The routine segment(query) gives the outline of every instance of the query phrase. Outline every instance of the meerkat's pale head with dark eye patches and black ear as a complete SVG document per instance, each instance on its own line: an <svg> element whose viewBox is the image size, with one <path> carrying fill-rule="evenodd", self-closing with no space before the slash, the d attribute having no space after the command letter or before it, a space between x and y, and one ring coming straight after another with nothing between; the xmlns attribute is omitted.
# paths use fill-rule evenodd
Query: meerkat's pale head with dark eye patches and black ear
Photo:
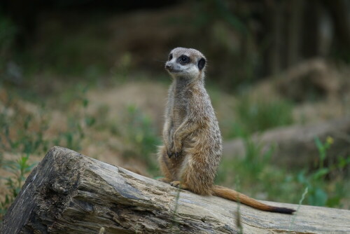
<svg viewBox="0 0 350 234"><path fill-rule="evenodd" d="M165 69L174 78L203 78L206 62L200 51L178 47L170 52Z"/></svg>

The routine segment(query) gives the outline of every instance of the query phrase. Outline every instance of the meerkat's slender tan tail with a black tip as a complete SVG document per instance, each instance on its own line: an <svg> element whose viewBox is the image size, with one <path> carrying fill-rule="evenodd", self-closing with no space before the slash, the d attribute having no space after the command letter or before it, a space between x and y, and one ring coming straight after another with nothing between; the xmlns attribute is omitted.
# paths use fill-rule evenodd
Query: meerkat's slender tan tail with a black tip
<svg viewBox="0 0 350 234"><path fill-rule="evenodd" d="M223 186L214 185L213 192L214 192L213 195L216 195L218 197L225 198L228 200L234 200L236 202L241 202L255 209L261 209L267 212L276 212L276 213L283 213L283 214L293 214L293 212L295 212L295 209L289 209L286 207L273 207L271 205L266 205L262 202L258 202L258 200L249 198L247 195L244 195L243 193L239 193L235 190L232 190L230 188L225 188Z"/></svg>

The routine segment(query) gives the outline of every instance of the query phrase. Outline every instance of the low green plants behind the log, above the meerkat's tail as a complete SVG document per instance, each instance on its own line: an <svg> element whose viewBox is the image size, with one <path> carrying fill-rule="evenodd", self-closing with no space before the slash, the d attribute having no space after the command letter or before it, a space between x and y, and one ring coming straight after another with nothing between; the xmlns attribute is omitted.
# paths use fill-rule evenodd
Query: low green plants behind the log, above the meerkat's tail
<svg viewBox="0 0 350 234"><path fill-rule="evenodd" d="M344 186L344 170L350 165L350 156L339 157L337 163L328 163L325 166L327 150L330 149L332 141L330 137L325 143L315 139L320 160L314 170L286 172L283 168L273 165L270 160L273 148L262 151L262 146L245 137L246 155L223 158L216 183L230 186L235 184L232 178L239 176L244 193L253 197L260 195L260 199L290 203L296 203L302 190L307 188L307 205L341 207L342 199L350 192L349 188Z"/></svg>

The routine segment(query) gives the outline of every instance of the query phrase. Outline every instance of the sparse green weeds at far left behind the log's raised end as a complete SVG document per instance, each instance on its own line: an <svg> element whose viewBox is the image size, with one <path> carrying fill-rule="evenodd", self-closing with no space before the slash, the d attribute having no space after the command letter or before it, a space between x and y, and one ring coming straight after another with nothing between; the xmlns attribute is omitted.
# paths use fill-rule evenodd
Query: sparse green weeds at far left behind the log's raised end
<svg viewBox="0 0 350 234"><path fill-rule="evenodd" d="M0 111L0 156L3 152L13 156L21 156L18 160L1 160L0 167L11 173L10 177L0 177L1 184L8 188L4 200L0 202L0 215L6 213L6 209L18 195L27 174L36 163L29 163L31 156L46 153L52 146L59 145L73 150L81 149L81 142L85 137L85 130L94 125L95 120L87 114L88 100L85 97L86 89L80 90L76 99L78 107L75 112L67 117L65 130L55 137L46 139L48 131L48 114L38 109L36 116L23 110L18 104L18 98L14 93L8 92L6 99L0 100L3 108ZM13 114L16 118L13 118ZM25 156L22 156L25 155ZM1 158L2 159L2 158Z"/></svg>

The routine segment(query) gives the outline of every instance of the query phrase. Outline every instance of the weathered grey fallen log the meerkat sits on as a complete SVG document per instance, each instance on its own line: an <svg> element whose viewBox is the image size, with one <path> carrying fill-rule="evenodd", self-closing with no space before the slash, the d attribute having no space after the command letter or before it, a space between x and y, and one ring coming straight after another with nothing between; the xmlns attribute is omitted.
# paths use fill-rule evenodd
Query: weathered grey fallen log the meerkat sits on
<svg viewBox="0 0 350 234"><path fill-rule="evenodd" d="M350 233L349 220L349 210L304 205L294 215L262 212L55 146L27 178L0 233Z"/></svg>

